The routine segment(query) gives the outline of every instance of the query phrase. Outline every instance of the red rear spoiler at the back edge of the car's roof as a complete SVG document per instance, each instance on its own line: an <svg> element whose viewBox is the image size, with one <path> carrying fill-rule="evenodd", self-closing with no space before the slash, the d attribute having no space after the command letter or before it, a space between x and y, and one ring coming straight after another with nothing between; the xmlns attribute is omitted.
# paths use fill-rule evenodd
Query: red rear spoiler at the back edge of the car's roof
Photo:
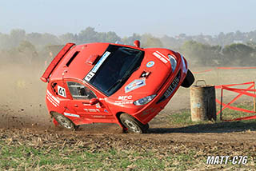
<svg viewBox="0 0 256 171"><path fill-rule="evenodd" d="M72 46L74 46L74 43L67 43L66 46L62 48L61 51L56 55L56 57L53 59L52 62L50 62L50 65L47 67L44 74L42 74L42 77L40 78L42 82L47 82L50 74L53 72L54 68L58 65L58 62L62 60L62 58L65 56L65 54L71 49Z"/></svg>

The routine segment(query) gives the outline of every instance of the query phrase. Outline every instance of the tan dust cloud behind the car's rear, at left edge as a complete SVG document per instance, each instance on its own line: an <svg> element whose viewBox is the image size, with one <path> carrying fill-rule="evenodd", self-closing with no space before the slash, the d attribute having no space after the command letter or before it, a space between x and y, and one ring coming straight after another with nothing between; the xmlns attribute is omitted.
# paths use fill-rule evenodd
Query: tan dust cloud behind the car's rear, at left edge
<svg viewBox="0 0 256 171"><path fill-rule="evenodd" d="M0 127L50 126L45 105L44 65L2 63L0 66Z"/></svg>

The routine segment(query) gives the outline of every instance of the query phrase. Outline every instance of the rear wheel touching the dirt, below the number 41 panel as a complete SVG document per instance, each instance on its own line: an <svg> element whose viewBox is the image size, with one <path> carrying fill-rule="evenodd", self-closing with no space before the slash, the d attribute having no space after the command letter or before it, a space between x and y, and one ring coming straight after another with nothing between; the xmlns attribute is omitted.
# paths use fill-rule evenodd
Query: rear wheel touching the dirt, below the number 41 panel
<svg viewBox="0 0 256 171"><path fill-rule="evenodd" d="M54 112L52 115L54 119L58 122L58 124L61 125L63 128L78 129L78 126L74 125L73 121L70 121L69 118L63 116L62 114Z"/></svg>

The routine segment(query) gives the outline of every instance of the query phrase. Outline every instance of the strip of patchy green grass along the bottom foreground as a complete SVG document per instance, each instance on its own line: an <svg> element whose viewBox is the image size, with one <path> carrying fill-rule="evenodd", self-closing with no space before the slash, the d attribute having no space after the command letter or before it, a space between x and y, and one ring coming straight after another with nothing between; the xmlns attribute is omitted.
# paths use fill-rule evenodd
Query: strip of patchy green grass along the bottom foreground
<svg viewBox="0 0 256 171"><path fill-rule="evenodd" d="M194 151L186 154L121 149L34 148L30 145L6 145L1 141L0 169L49 170L184 170L195 165ZM49 150L50 149L50 150ZM187 162L186 165L180 165Z"/></svg>

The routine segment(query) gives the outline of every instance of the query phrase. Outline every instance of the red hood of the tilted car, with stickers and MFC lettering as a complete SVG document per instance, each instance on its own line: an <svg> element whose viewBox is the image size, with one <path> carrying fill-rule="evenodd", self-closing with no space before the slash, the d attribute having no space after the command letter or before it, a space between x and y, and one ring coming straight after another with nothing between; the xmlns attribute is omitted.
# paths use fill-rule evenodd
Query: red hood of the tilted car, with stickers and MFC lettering
<svg viewBox="0 0 256 171"><path fill-rule="evenodd" d="M172 74L172 67L168 54L177 59L177 54L166 49L146 49L141 66L126 81L116 93L112 95L115 99L130 97L137 100L146 97L161 89L166 79Z"/></svg>

